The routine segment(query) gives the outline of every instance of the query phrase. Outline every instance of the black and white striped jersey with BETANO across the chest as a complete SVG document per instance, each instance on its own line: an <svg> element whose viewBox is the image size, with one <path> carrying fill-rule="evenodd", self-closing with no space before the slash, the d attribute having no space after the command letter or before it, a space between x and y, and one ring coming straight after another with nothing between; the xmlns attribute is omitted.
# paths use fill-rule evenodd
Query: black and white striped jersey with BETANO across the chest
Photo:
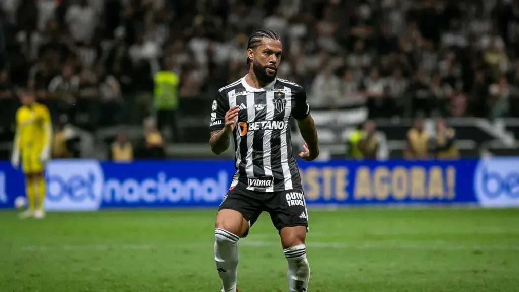
<svg viewBox="0 0 519 292"><path fill-rule="evenodd" d="M303 87L276 78L264 88L254 88L242 77L218 90L210 130L223 129L225 113L235 106L239 106L239 113L233 131L236 173L231 188L240 185L262 192L302 191L290 118L303 120L308 116L310 108Z"/></svg>

